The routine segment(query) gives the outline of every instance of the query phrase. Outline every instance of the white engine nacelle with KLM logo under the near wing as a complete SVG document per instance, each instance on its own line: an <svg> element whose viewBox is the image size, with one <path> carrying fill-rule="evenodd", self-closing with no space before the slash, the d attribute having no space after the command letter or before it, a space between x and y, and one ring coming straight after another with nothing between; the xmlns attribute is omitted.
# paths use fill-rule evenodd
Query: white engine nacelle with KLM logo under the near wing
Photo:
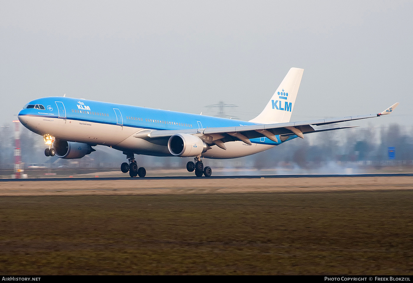
<svg viewBox="0 0 413 283"><path fill-rule="evenodd" d="M180 157L198 156L207 151L207 144L200 138L187 133L178 133L168 140L168 149L172 155Z"/></svg>

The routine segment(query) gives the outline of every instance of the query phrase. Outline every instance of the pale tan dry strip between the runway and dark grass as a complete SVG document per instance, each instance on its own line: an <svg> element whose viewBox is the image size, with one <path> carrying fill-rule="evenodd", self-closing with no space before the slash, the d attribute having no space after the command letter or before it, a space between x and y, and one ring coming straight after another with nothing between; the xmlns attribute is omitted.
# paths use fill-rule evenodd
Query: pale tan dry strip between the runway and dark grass
<svg viewBox="0 0 413 283"><path fill-rule="evenodd" d="M161 179L101 181L0 182L0 195L145 195L204 193L320 192L340 190L408 190L413 177L320 177Z"/></svg>

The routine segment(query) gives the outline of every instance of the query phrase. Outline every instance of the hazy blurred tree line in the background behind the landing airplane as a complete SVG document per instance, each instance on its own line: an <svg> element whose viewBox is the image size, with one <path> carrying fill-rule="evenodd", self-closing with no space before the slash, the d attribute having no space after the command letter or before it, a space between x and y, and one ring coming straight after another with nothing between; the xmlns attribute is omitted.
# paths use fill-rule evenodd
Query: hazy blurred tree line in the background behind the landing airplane
<svg viewBox="0 0 413 283"><path fill-rule="evenodd" d="M8 126L8 127L7 127ZM97 146L97 151L82 159L45 157L43 138L20 126L22 162L26 164L54 164L87 167L119 166L126 161L121 152ZM329 162L384 162L389 160L388 147L395 148L394 161L412 164L412 128L391 124L383 128L354 128L338 131L309 133L304 140L296 138L265 152L241 159L225 161L225 164L245 164L257 169L279 166L312 168ZM12 168L14 164L14 125L0 128L0 168ZM191 158L137 156L144 166L181 167ZM213 162L213 161L211 161Z"/></svg>

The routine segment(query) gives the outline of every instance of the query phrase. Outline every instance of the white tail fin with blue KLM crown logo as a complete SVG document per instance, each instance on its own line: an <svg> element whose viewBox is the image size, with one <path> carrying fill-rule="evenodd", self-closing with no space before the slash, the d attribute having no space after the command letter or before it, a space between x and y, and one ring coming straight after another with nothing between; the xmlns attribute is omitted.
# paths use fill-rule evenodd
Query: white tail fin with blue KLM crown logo
<svg viewBox="0 0 413 283"><path fill-rule="evenodd" d="M264 110L250 122L273 124L289 122L304 69L291 68Z"/></svg>

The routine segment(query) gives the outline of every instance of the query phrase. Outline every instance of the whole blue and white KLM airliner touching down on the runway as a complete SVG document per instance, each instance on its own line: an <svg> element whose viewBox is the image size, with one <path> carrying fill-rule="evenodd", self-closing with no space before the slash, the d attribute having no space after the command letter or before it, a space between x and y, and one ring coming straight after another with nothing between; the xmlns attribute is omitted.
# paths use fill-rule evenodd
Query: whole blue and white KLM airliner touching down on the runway
<svg viewBox="0 0 413 283"><path fill-rule="evenodd" d="M121 164L123 173L144 177L135 154L194 157L187 169L200 177L211 176L203 157L213 159L252 155L304 138L306 133L341 128L314 126L366 119L390 114L395 103L378 114L290 122L303 69L291 68L261 114L250 121L238 121L160 109L97 102L92 100L49 97L29 102L19 112L19 120L45 140L46 156L66 159L82 158L95 151L96 145L121 150L128 162Z"/></svg>

